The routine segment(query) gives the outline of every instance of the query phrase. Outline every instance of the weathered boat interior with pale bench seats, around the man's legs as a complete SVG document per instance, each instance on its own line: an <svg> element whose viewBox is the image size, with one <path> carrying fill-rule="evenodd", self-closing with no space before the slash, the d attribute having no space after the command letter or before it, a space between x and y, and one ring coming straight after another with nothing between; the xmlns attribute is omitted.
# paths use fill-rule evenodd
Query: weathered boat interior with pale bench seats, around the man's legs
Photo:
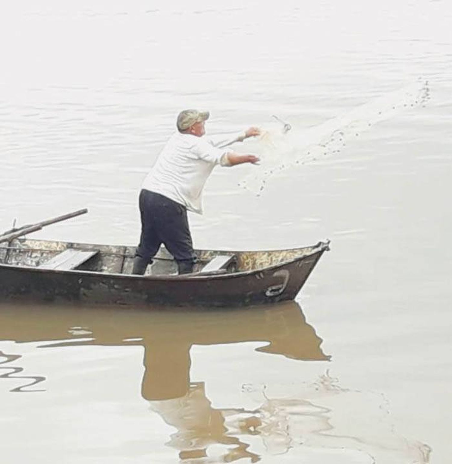
<svg viewBox="0 0 452 464"><path fill-rule="evenodd" d="M275 251L195 250L195 273L255 271L310 255L317 245ZM54 271L83 270L109 274L131 274L135 247L90 245L72 242L16 238L0 244L0 264L38 267ZM146 274L177 274L172 255L162 245Z"/></svg>

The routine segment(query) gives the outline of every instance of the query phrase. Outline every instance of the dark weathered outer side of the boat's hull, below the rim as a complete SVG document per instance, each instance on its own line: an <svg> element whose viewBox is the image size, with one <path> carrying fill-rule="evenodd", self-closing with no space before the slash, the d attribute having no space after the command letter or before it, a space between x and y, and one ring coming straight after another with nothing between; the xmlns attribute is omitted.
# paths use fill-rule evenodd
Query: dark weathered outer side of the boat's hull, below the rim
<svg viewBox="0 0 452 464"><path fill-rule="evenodd" d="M91 271L48 271L0 265L0 296L14 300L87 304L248 306L293 300L321 249L259 271L216 276L130 276Z"/></svg>

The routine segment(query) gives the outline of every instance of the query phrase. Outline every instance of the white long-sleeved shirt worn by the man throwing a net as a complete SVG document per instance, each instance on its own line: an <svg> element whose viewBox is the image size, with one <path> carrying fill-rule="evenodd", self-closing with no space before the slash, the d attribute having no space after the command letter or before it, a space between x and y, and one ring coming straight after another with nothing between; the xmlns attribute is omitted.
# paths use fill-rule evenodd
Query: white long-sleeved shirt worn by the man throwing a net
<svg viewBox="0 0 452 464"><path fill-rule="evenodd" d="M226 155L231 150L226 147L243 139L241 134L214 142L205 135L197 137L175 132L147 174L142 188L202 214L202 192L207 178L217 164L229 166Z"/></svg>

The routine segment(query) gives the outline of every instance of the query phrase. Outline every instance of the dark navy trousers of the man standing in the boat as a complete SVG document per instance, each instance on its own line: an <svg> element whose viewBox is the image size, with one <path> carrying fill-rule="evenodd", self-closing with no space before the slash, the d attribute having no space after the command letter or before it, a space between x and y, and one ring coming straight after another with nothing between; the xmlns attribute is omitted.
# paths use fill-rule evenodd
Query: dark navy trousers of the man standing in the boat
<svg viewBox="0 0 452 464"><path fill-rule="evenodd" d="M185 206L145 189L140 192L139 204L141 237L135 256L146 265L152 263L163 243L177 261L179 273L191 272L196 256Z"/></svg>

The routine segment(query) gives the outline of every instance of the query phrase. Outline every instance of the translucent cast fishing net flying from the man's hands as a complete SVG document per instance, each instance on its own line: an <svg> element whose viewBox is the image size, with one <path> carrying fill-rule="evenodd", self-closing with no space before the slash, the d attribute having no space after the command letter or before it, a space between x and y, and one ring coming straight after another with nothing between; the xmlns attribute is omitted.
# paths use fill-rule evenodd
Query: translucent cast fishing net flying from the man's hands
<svg viewBox="0 0 452 464"><path fill-rule="evenodd" d="M272 175L325 156L337 156L347 142L356 139L377 122L388 120L402 111L425 106L429 99L428 81L419 80L308 129L293 128L273 116L284 125L279 124L278 129L263 132L255 147L261 162L238 185L259 196Z"/></svg>

